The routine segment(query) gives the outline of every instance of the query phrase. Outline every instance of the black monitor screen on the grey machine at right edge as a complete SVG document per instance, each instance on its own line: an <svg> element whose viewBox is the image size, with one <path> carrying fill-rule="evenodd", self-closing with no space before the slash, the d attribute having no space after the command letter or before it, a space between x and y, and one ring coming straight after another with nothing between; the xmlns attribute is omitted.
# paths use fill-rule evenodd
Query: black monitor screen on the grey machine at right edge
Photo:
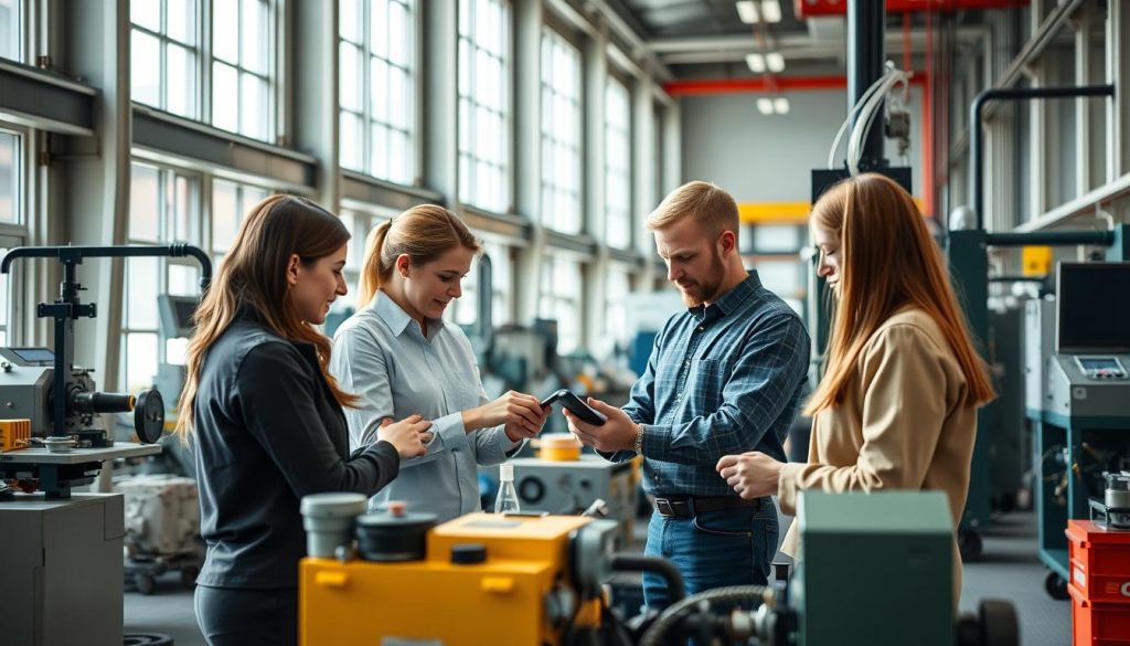
<svg viewBox="0 0 1130 646"><path fill-rule="evenodd" d="M1130 352L1130 262L1060 262L1055 352Z"/></svg>

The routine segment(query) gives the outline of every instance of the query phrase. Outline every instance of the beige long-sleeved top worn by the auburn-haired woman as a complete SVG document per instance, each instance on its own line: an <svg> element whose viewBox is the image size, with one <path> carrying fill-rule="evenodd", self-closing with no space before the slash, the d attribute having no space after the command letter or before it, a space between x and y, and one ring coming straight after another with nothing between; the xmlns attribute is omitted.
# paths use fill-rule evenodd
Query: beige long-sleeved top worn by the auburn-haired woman
<svg viewBox="0 0 1130 646"><path fill-rule="evenodd" d="M786 464L781 510L796 515L806 489L829 492L890 489L944 491L956 528L970 486L977 415L949 344L925 312L904 309L868 341L858 377L838 406L812 421L808 464ZM782 551L796 557L793 523ZM954 591L962 563L955 542Z"/></svg>

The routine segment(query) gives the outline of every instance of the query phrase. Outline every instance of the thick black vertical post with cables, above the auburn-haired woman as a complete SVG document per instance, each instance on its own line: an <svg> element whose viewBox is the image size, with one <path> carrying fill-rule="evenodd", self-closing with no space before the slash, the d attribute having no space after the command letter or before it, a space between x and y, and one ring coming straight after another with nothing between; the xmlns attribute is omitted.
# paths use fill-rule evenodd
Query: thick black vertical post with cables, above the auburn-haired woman
<svg viewBox="0 0 1130 646"><path fill-rule="evenodd" d="M886 0L847 0L847 110L851 111L867 88L883 77L883 36ZM880 105L879 111L883 110ZM881 113L881 112L880 112ZM852 117L851 130L861 115ZM863 124L867 126L866 123ZM863 141L860 165L886 165L883 158L883 128L872 127Z"/></svg>

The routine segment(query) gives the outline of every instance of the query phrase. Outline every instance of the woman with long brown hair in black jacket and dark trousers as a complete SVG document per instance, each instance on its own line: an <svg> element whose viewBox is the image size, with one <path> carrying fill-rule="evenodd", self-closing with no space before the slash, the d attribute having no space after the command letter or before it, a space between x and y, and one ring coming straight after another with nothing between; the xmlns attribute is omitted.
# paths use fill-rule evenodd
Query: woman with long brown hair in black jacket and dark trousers
<svg viewBox="0 0 1130 646"><path fill-rule="evenodd" d="M195 610L211 646L295 644L299 500L372 496L431 439L414 415L349 454L341 407L356 398L327 372L330 341L313 327L346 293L348 240L314 203L269 197L197 309L176 433L195 451L208 546Z"/></svg>

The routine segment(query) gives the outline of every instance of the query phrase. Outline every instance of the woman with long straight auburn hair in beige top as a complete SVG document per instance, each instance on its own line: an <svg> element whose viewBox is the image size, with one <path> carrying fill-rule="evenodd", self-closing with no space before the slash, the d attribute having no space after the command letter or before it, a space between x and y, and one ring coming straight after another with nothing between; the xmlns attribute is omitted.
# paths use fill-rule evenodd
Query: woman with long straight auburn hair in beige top
<svg viewBox="0 0 1130 646"><path fill-rule="evenodd" d="M809 224L818 273L837 302L827 369L806 408L814 416L808 463L746 453L724 456L718 471L742 498L776 494L786 514L805 490L938 490L956 527L976 410L996 395L941 250L911 196L873 173L828 189ZM782 548L792 555L796 532ZM954 559L956 595L956 541Z"/></svg>

